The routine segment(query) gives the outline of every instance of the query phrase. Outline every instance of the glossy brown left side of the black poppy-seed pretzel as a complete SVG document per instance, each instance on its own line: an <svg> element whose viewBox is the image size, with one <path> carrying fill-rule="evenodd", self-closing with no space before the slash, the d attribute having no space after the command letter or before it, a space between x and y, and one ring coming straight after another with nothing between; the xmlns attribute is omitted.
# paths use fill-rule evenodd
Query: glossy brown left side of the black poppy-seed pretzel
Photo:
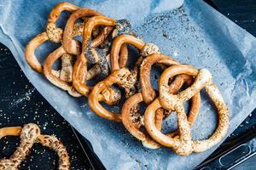
<svg viewBox="0 0 256 170"><path fill-rule="evenodd" d="M90 52L90 38L92 29L95 26L114 26L115 23L115 20L109 19L108 17L95 16L90 18L90 20L88 20L84 25L82 52L73 67L73 87L76 88L80 94L84 94L84 96L88 96L88 94L90 93L90 87L87 86L83 80L86 78L87 74L87 56ZM86 53L86 57L84 53ZM103 57L102 59L106 58ZM99 59L95 59L94 63L96 63L97 61L99 61ZM105 60L105 62L102 60L102 64L108 65L107 59ZM102 68L102 65L100 65L100 67ZM105 71L103 71L103 73L107 75L108 72Z"/></svg>

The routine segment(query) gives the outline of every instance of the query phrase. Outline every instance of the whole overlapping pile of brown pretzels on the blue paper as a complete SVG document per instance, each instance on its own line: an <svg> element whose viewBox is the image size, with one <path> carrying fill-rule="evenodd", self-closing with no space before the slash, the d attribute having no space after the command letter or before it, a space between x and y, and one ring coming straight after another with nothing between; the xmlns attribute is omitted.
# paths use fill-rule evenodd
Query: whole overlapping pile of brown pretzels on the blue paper
<svg viewBox="0 0 256 170"><path fill-rule="evenodd" d="M64 29L55 24L62 11L71 13ZM76 37L82 37L82 41ZM45 41L61 46L41 65L35 50ZM127 45L140 53L132 68L127 66ZM229 111L212 82L210 71L197 70L161 54L154 43L143 42L137 36L128 20L113 20L90 8L59 3L49 14L46 30L28 42L25 56L32 69L42 73L49 82L73 97L88 98L90 109L96 115L123 122L131 135L147 148L166 146L178 155L187 156L218 144L227 133ZM52 66L59 58L61 70L55 71ZM162 71L158 90L150 82L153 65ZM87 85L92 79L97 81L96 85ZM183 86L186 88L181 91ZM217 108L218 126L208 139L193 140L191 126L200 110L203 88ZM113 113L102 106L102 103L116 105L122 96L126 100L121 113ZM191 107L187 116L183 103L188 100ZM147 105L144 113L140 113L142 102ZM162 122L172 112L177 113L177 131L162 133Z"/></svg>

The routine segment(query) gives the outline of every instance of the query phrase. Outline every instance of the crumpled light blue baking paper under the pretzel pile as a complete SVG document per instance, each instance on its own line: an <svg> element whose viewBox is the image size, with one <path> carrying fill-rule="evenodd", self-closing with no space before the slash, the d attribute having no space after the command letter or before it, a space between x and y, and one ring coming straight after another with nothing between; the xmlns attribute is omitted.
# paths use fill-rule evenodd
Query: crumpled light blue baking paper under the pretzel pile
<svg viewBox="0 0 256 170"><path fill-rule="evenodd" d="M121 123L104 120L91 112L86 99L70 97L32 71L26 64L24 48L32 37L44 31L49 11L58 2L2 0L0 41L10 48L26 77L44 98L90 140L96 155L107 169L191 169L216 149L217 146L190 156L177 156L166 148L148 150L132 138ZM157 44L163 54L199 69L209 69L230 108L229 134L255 108L256 39L203 1L70 2L95 8L114 19L131 20L139 36L145 42ZM37 54L44 60L54 48L53 43L46 43L38 49ZM207 95L201 93L201 96L201 111L192 127L194 139L207 138L218 120ZM177 126L173 120L174 114L164 123L164 131L169 131L171 125Z"/></svg>

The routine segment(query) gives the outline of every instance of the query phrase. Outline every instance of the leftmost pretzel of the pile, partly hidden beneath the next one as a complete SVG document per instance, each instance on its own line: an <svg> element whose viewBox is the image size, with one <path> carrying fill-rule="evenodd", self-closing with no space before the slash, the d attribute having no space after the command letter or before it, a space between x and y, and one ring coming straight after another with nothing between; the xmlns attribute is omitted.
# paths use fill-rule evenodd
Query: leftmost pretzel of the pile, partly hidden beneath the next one
<svg viewBox="0 0 256 170"><path fill-rule="evenodd" d="M61 12L67 10L72 13L73 11L78 9L79 7L73 5L72 3L58 3L55 8L53 8L53 10L49 14L46 31L32 38L32 40L26 45L25 57L28 65L30 65L32 69L38 72L43 71L43 66L40 64L40 62L38 61L38 57L35 55L36 49L42 43L46 41L61 42L62 29L55 26L55 22L59 19Z"/></svg>

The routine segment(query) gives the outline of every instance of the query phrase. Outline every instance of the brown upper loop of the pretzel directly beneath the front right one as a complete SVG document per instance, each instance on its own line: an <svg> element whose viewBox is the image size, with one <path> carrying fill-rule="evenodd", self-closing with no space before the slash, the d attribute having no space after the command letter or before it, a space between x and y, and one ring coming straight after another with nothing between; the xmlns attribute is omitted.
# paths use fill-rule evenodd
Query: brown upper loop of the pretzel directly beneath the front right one
<svg viewBox="0 0 256 170"><path fill-rule="evenodd" d="M163 64L163 65L179 65L179 63L172 59L171 57L168 57L163 54L151 54L148 55L145 59L143 59L143 63L140 67L140 82L141 82L141 89L143 94L143 100L146 104L151 103L155 97L155 91L152 88L151 82L150 82L150 71L152 65L155 63Z"/></svg>

